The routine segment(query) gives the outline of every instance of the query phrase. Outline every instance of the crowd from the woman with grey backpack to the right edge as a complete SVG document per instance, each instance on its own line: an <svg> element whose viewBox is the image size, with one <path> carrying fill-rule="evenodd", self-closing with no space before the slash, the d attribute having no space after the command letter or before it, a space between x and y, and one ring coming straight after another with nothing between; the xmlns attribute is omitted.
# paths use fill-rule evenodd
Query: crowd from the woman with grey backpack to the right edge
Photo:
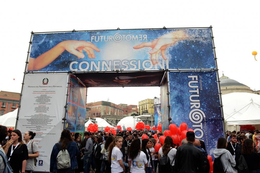
<svg viewBox="0 0 260 173"><path fill-rule="evenodd" d="M157 133L158 139L154 138ZM251 135L251 134L255 135ZM226 173L237 172L239 158L243 155L249 172L260 172L259 139L260 132L241 131L227 132L226 138L221 137L217 142L217 149L213 151L215 160L219 158L222 170ZM147 135L149 138L143 138ZM81 141L80 134L71 137L69 130L63 130L60 145L66 146L66 142L72 142L68 147L71 158L71 167L59 170L55 166L59 149L54 146L51 154L50 172L105 172L105 173L164 173L168 172L210 172L207 160L208 153L205 144L195 139L195 134L188 131L186 139L174 144L170 136L166 136L164 144L159 137L163 134L159 131L127 131L117 132L116 135L108 132L85 132ZM253 141L253 138L255 141ZM73 144L73 141L75 143ZM160 144L156 151L154 146ZM78 150L75 151L74 148ZM73 152L70 152L73 151ZM215 167L214 167L215 169ZM213 170L218 172L219 169ZM221 172L221 171L220 171Z"/></svg>

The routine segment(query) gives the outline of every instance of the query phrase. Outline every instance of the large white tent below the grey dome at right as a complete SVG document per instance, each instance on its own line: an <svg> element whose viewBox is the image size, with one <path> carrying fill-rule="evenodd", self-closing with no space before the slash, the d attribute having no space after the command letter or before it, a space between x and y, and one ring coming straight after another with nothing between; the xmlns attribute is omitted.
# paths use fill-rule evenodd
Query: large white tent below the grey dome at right
<svg viewBox="0 0 260 173"><path fill-rule="evenodd" d="M260 124L260 95L233 92L223 95L222 102L228 126Z"/></svg>

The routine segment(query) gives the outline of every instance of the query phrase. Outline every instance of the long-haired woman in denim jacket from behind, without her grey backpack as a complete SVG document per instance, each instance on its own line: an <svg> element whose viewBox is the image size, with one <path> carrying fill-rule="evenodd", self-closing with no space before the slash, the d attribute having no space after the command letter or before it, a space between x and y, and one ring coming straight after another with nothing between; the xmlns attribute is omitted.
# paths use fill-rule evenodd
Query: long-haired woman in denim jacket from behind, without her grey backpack
<svg viewBox="0 0 260 173"><path fill-rule="evenodd" d="M70 168L67 169L58 169L57 168L57 162L56 158L58 153L60 152L59 147L63 149L67 149L69 152L70 157ZM77 169L77 159L76 156L80 154L80 151L78 150L76 142L72 141L72 137L70 135L70 131L68 129L64 129L61 132L61 137L59 143L55 144L53 146L53 149L51 151L50 155L50 172L66 172L70 171L71 173L75 172L75 169Z"/></svg>

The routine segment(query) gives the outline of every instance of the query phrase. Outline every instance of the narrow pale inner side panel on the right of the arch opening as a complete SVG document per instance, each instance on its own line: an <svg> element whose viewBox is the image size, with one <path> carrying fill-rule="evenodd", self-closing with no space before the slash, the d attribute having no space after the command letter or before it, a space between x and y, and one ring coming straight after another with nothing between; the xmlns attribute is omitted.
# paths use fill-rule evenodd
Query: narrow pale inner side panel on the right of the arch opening
<svg viewBox="0 0 260 173"><path fill-rule="evenodd" d="M161 90L161 124L162 124L162 132L168 129L169 121L168 121L168 95L167 95L167 75L162 81L160 90Z"/></svg>

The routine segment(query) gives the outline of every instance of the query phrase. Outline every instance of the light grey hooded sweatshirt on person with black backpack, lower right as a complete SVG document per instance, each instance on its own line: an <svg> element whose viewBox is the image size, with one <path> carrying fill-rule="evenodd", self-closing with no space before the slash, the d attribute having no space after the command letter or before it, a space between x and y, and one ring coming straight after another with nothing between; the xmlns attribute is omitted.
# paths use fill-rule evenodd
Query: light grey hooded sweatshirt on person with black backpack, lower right
<svg viewBox="0 0 260 173"><path fill-rule="evenodd" d="M228 150L216 149L213 151L213 155L215 158L218 158L220 155L222 155L220 160L222 162L224 171L227 170L226 173L237 173L237 170L234 168L236 166L236 161Z"/></svg>

